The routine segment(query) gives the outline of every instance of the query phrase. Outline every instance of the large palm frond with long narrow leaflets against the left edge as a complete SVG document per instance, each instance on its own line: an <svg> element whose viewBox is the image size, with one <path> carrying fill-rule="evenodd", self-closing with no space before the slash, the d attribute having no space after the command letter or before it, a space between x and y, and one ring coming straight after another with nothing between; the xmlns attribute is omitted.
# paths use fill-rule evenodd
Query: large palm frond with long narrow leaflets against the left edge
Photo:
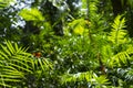
<svg viewBox="0 0 133 88"><path fill-rule="evenodd" d="M32 73L31 54L25 53L25 48L19 48L17 43L4 43L0 45L0 85L10 86L8 82L19 82L24 78L24 73Z"/></svg>

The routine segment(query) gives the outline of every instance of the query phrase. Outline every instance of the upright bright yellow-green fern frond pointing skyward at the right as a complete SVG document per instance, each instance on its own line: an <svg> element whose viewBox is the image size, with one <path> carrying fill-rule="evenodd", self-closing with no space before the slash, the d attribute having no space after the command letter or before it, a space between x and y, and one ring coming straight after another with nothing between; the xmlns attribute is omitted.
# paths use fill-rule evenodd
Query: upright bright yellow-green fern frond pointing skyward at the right
<svg viewBox="0 0 133 88"><path fill-rule="evenodd" d="M123 44L126 42L125 35L127 34L126 30L123 30L125 28L125 19L121 15L117 15L114 19L114 23L112 24L112 30L109 36L109 41L111 41L113 44Z"/></svg>

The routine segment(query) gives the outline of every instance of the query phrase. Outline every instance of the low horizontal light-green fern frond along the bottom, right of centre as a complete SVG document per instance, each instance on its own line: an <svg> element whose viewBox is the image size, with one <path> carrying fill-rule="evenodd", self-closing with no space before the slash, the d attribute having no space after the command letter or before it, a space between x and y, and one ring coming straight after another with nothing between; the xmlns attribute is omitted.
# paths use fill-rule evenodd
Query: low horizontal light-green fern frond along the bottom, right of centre
<svg viewBox="0 0 133 88"><path fill-rule="evenodd" d="M105 76L98 77L96 74L92 72L63 75L61 80L62 84L76 81L86 81L95 86L109 84L109 79L106 79Z"/></svg>

